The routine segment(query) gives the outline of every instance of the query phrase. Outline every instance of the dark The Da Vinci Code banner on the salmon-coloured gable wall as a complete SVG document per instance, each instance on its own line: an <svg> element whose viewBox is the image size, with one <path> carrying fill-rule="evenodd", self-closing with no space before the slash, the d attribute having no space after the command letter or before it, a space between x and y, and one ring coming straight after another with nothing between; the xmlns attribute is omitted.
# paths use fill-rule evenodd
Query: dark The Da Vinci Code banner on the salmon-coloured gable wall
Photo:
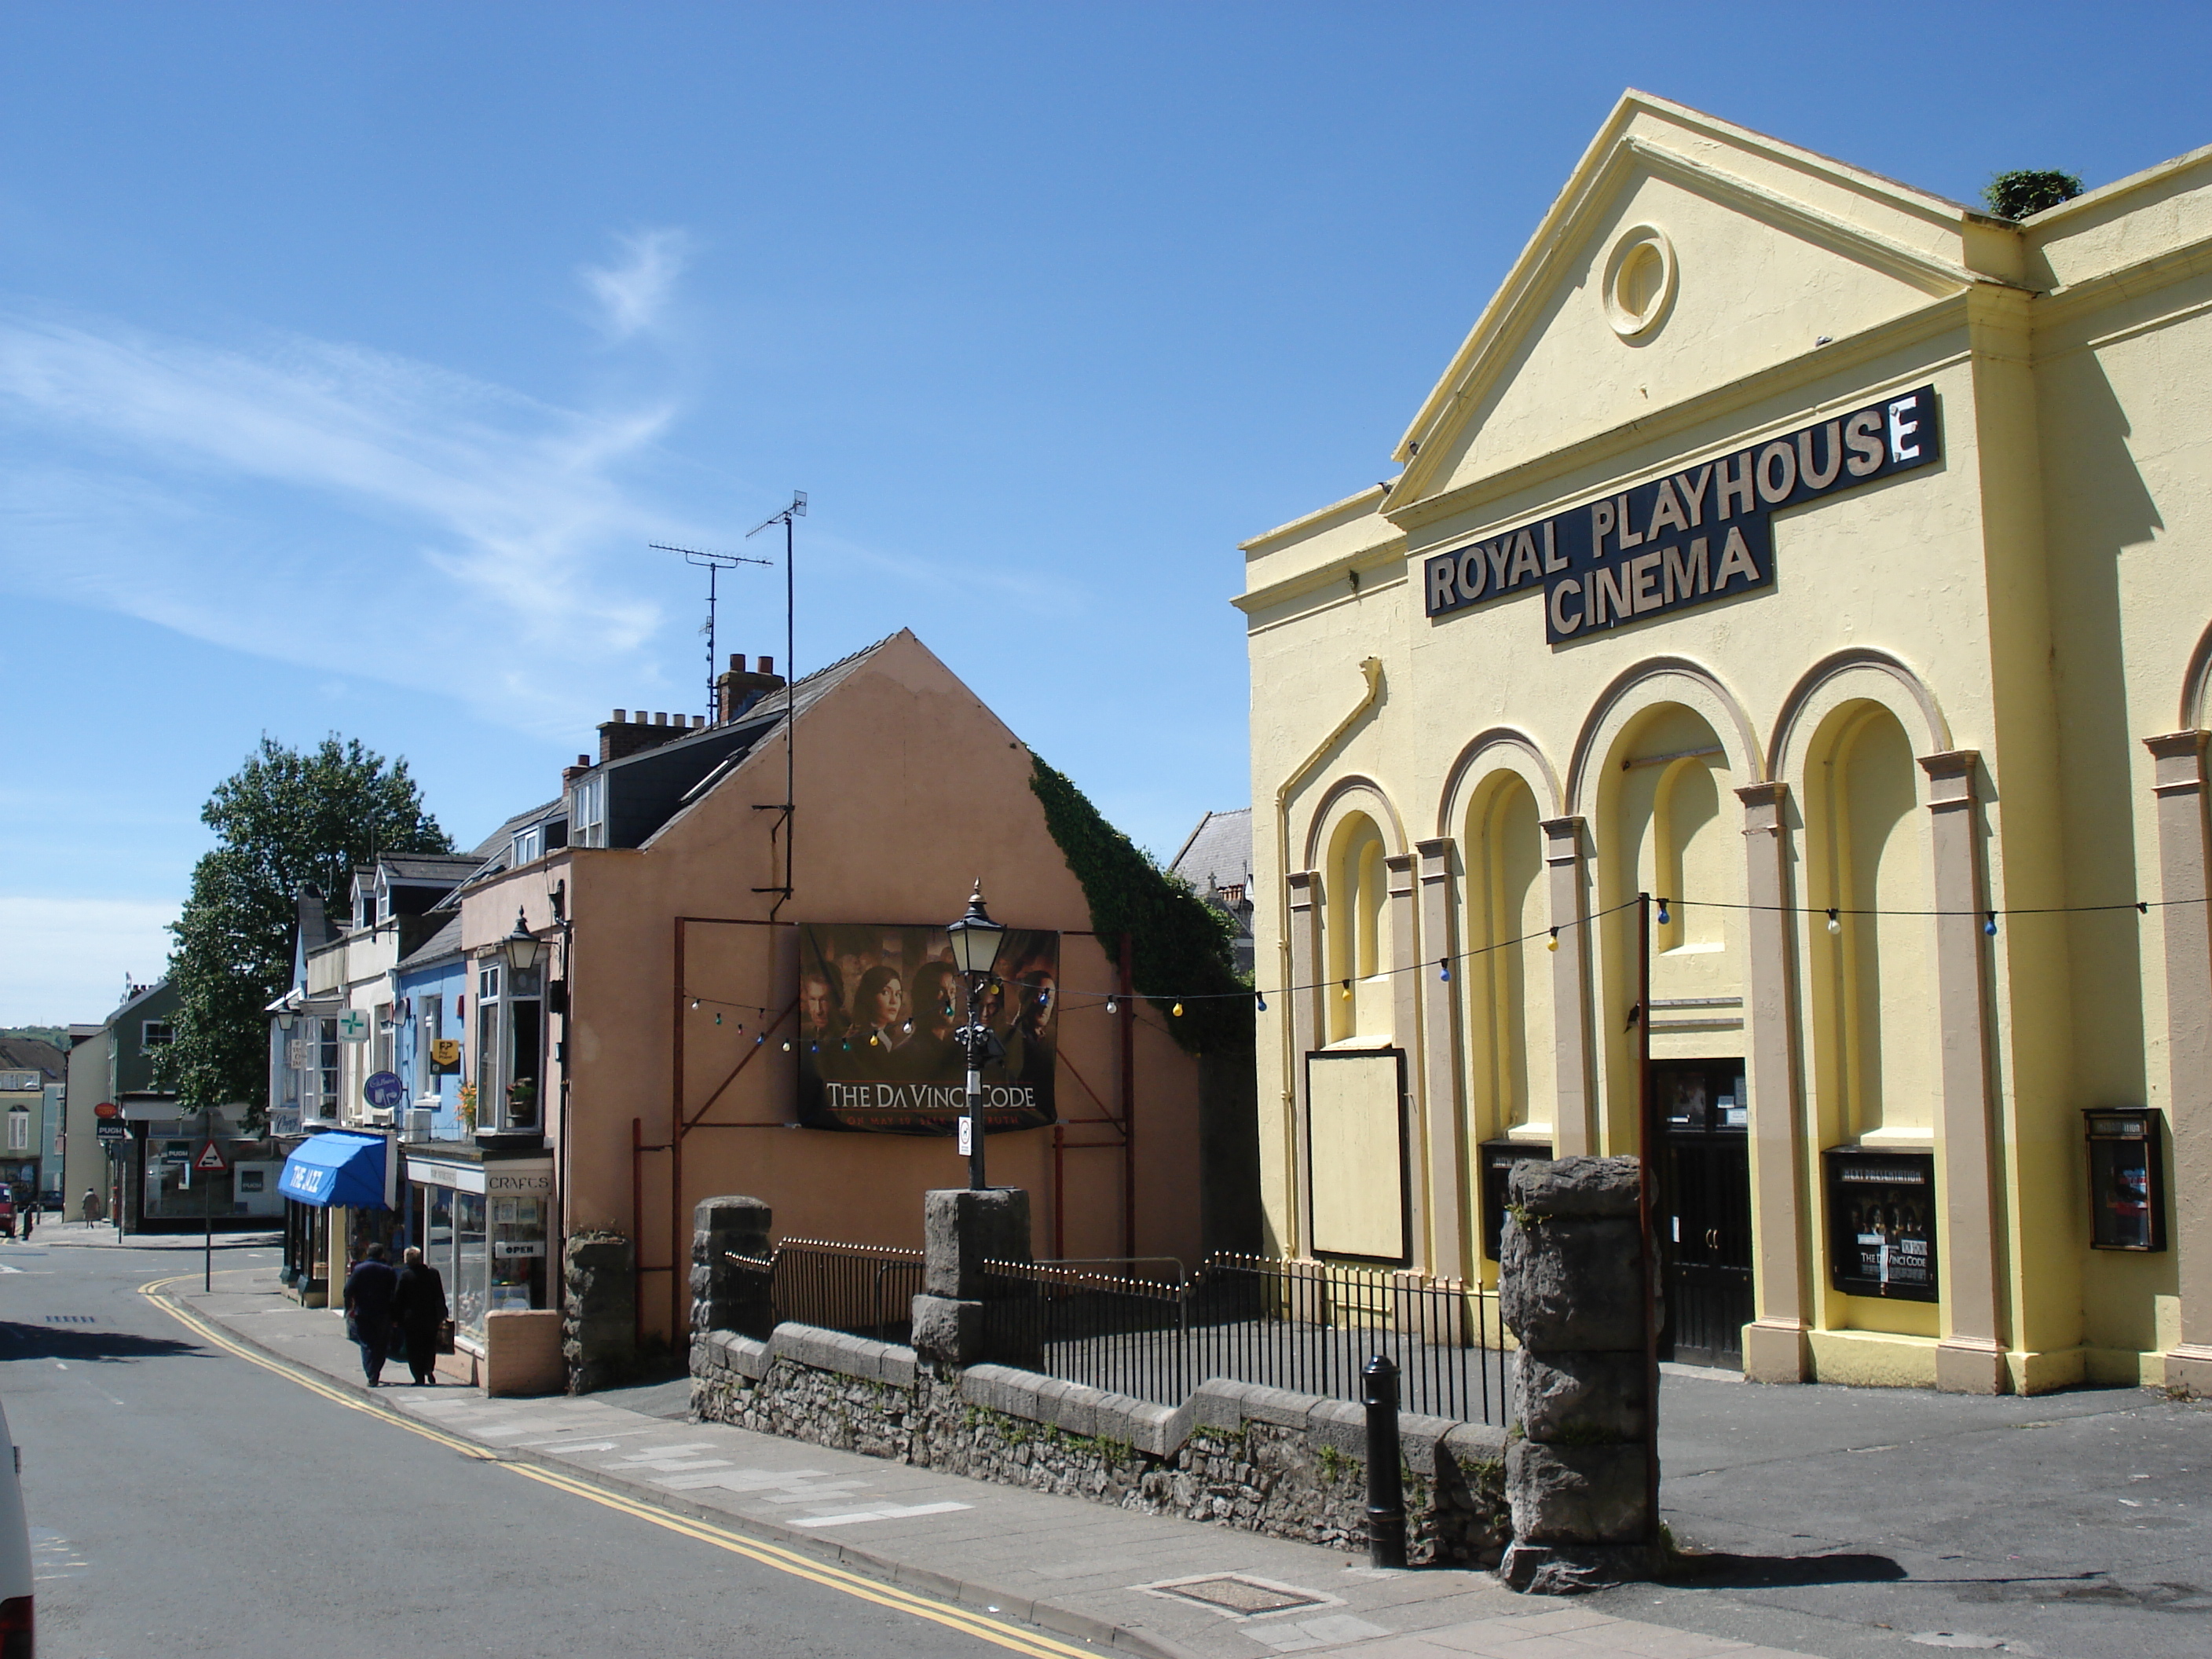
<svg viewBox="0 0 2212 1659"><path fill-rule="evenodd" d="M1060 933L1006 929L980 1000L1004 1051L982 1073L984 1130L1055 1121ZM953 1135L967 1113L967 987L942 927L799 929L799 1121Z"/></svg>

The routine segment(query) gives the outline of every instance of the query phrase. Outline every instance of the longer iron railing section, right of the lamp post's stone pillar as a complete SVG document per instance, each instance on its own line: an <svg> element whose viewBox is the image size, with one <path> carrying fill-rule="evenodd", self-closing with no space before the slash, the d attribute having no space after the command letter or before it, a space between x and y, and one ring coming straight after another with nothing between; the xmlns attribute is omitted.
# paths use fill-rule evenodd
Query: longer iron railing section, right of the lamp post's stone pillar
<svg viewBox="0 0 2212 1659"><path fill-rule="evenodd" d="M1356 1402L1385 1354L1407 1411L1493 1425L1506 1411L1498 1303L1453 1279L1228 1254L1181 1283L991 1263L989 1318L998 1352L1159 1405L1206 1378Z"/></svg>

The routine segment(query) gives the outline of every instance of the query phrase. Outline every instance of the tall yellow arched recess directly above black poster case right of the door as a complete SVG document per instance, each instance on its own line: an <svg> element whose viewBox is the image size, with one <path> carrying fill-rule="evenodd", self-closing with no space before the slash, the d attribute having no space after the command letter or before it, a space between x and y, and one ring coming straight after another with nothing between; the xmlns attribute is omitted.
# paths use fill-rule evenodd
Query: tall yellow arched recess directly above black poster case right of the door
<svg viewBox="0 0 2212 1659"><path fill-rule="evenodd" d="M1809 1108L1820 1146L1929 1146L1942 1097L1936 865L1918 737L1843 699L1803 739Z"/></svg>

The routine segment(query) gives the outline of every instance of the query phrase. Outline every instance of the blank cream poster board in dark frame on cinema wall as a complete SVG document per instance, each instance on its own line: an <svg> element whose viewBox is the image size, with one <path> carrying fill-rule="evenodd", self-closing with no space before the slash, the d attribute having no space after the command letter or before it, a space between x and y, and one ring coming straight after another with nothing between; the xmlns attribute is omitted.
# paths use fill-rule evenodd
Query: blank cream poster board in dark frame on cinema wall
<svg viewBox="0 0 2212 1659"><path fill-rule="evenodd" d="M1305 1057L1305 1168L1316 1256L1413 1259L1405 1181L1405 1048Z"/></svg>

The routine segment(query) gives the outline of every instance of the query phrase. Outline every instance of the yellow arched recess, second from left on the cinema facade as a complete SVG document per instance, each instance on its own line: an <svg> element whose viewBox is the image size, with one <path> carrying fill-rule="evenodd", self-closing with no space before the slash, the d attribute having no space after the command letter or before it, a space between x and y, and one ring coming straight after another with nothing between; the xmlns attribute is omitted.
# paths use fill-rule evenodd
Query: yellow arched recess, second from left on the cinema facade
<svg viewBox="0 0 2212 1659"><path fill-rule="evenodd" d="M1506 761L1509 750L1491 752ZM1542 821L1557 812L1544 776L1493 765L1464 792L1458 818L1467 956L1460 967L1467 1031L1467 1148L1493 1137L1553 1139L1559 1099L1553 1009L1551 891ZM1480 1190L1471 1170L1469 1190Z"/></svg>

